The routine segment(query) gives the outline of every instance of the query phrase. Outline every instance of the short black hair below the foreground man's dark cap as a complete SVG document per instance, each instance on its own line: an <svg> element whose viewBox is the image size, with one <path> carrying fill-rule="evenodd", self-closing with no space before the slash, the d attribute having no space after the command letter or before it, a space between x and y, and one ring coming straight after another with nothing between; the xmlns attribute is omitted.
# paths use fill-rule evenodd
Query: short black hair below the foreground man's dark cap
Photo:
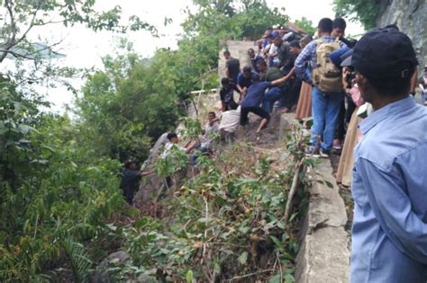
<svg viewBox="0 0 427 283"><path fill-rule="evenodd" d="M394 96L395 94L409 93L413 72L415 72L415 66L410 72L411 75L405 78L368 78L368 81L376 89L377 93L383 96Z"/></svg>

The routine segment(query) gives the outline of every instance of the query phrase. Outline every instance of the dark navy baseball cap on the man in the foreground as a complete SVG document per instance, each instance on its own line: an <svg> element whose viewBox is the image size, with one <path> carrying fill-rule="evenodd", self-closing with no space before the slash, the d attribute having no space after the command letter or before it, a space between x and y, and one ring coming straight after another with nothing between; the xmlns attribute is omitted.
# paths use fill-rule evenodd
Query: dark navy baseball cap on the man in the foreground
<svg viewBox="0 0 427 283"><path fill-rule="evenodd" d="M351 56L351 66L368 78L409 78L417 65L412 41L395 29L368 31Z"/></svg>

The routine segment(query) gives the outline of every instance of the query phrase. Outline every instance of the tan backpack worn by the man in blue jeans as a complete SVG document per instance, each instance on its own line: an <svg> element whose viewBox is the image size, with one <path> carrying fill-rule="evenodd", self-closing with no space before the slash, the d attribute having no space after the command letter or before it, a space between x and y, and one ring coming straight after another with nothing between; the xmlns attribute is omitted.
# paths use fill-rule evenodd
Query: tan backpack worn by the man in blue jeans
<svg viewBox="0 0 427 283"><path fill-rule="evenodd" d="M323 93L341 93L343 86L341 80L341 69L332 63L330 54L340 49L340 41L332 42L316 40L316 67L313 69L312 81Z"/></svg>

